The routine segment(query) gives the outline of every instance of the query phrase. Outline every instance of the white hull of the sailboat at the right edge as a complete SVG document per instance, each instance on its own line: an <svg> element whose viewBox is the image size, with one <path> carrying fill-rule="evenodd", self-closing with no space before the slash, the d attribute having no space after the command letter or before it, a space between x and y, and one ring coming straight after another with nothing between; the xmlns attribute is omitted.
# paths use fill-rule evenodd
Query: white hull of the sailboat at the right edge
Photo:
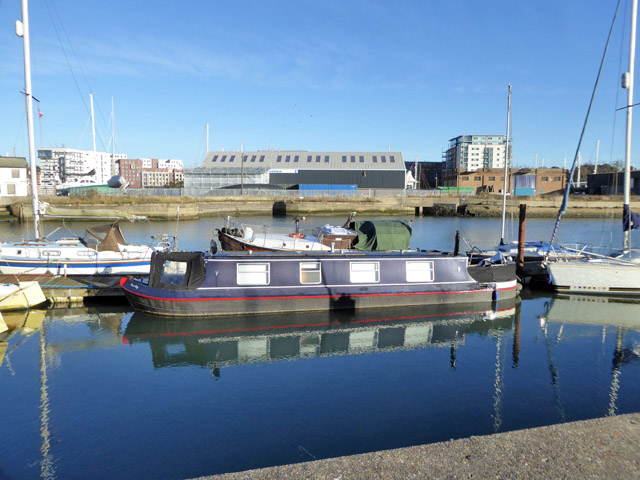
<svg viewBox="0 0 640 480"><path fill-rule="evenodd" d="M596 261L549 262L553 288L562 292L640 295L640 265Z"/></svg>

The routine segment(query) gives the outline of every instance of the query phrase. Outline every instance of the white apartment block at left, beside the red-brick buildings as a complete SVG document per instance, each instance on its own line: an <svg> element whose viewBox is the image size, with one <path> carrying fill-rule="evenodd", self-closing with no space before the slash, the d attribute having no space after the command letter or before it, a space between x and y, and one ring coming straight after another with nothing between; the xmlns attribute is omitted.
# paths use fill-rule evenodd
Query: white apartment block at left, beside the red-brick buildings
<svg viewBox="0 0 640 480"><path fill-rule="evenodd" d="M117 160L127 158L125 154L94 152L75 148L41 148L40 183L55 185L60 183L88 180L92 183L107 183L118 174ZM93 171L93 173L91 173Z"/></svg>

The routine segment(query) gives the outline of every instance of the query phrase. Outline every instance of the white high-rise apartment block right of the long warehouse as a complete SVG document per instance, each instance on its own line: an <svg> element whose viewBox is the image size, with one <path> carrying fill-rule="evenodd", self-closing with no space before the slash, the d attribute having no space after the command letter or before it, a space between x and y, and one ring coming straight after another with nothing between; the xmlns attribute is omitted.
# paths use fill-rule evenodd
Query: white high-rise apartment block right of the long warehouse
<svg viewBox="0 0 640 480"><path fill-rule="evenodd" d="M505 135L460 135L449 140L443 156L449 171L475 171L504 168L505 151Z"/></svg>

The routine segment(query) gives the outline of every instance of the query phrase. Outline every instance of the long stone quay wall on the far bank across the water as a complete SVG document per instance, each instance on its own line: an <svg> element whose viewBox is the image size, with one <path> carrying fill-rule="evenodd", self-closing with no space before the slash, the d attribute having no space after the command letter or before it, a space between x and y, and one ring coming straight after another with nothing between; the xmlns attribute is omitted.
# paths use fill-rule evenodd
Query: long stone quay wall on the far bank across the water
<svg viewBox="0 0 640 480"><path fill-rule="evenodd" d="M500 217L502 198L499 196L438 196L424 197L397 195L387 197L317 197L267 198L244 197L91 197L45 199L49 202L47 214L62 217L128 218L146 217L150 220L199 219L219 215L347 215L352 211L362 215L471 215ZM5 199L6 201L6 199ZM507 211L517 214L520 204L527 205L528 217L553 218L557 216L562 197L509 198ZM29 199L16 200L5 207L14 219L32 218ZM632 201L631 208L640 211L640 200ZM622 215L622 200L616 197L572 197L566 217L601 218Z"/></svg>

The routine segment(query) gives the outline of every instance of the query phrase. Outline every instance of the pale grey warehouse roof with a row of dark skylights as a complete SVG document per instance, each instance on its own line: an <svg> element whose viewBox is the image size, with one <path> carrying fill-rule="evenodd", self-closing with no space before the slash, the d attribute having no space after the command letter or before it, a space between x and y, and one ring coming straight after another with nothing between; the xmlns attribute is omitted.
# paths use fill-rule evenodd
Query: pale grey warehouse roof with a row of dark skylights
<svg viewBox="0 0 640 480"><path fill-rule="evenodd" d="M202 164L206 168L226 169L240 166L266 167L270 170L402 170L400 152L308 152L305 150L258 150L255 152L208 152Z"/></svg>

